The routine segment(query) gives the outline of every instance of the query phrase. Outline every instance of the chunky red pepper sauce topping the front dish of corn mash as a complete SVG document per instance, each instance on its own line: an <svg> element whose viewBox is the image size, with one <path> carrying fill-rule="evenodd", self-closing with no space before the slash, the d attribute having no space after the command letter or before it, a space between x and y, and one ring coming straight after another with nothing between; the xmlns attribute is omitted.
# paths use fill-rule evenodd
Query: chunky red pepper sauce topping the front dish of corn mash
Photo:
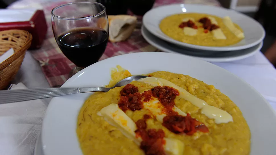
<svg viewBox="0 0 276 155"><path fill-rule="evenodd" d="M118 106L123 112L127 110L140 110L143 108L143 102L141 101L143 98L144 102L148 102L153 97L159 99L161 104L164 106L164 112L166 113L166 117L163 118L162 125L169 129L171 132L180 134L186 133L187 135L193 135L197 130L201 132L209 132L209 129L201 122L191 118L190 114L187 116L181 116L178 112L172 110L174 107L174 99L179 95L178 90L168 87L168 86L157 86L149 91L145 91L144 93L138 93L138 87L135 87L132 84L127 84L120 92L121 97L118 102ZM163 131L156 131L155 129L146 130L147 124L145 120L151 118L149 115L144 115L144 119L138 120L136 122L137 132L135 133L138 136L141 136L145 144L143 145L143 150L148 152L148 147L152 144L152 141L159 141L155 135L160 135ZM154 136L151 136L154 135ZM151 140L147 140L147 139ZM162 136L161 136L162 137ZM160 138L160 137L159 137ZM159 143L159 142L158 142ZM141 143L142 147L142 143ZM156 155L156 154L155 154Z"/></svg>

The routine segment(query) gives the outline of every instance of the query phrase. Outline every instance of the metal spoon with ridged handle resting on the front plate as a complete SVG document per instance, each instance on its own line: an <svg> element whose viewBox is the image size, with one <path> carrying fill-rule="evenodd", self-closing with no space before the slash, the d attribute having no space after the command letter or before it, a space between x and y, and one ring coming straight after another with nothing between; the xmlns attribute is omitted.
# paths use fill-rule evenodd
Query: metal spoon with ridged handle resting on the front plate
<svg viewBox="0 0 276 155"><path fill-rule="evenodd" d="M115 87L120 87L130 83L131 81L137 81L147 76L136 75L130 76L119 81L116 85L110 88L105 87L90 87L90 88L38 88L38 89L18 89L18 90L2 90L0 91L0 104L20 102L26 100L43 99L48 97L56 97L61 95L69 95L76 93L86 93L95 91L107 92Z"/></svg>

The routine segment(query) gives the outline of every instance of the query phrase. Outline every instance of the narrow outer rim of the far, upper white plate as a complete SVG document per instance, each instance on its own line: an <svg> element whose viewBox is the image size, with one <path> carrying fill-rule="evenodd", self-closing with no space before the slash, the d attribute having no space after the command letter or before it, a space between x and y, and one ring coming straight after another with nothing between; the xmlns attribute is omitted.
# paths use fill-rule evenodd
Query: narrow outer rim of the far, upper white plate
<svg viewBox="0 0 276 155"><path fill-rule="evenodd" d="M178 46L182 46L182 47L188 47L188 48L191 48L191 49L200 49L200 50L207 50L207 51L234 51L234 50L241 50L241 49L246 49L246 48L250 48L250 47L253 47L257 44L259 44L261 41L263 41L264 37L265 37L265 30L263 28L263 26L261 26L261 24L259 22L257 22L255 19L253 18L250 18L251 20L253 20L261 29L262 31L262 36L257 40L255 41L254 43L251 43L251 44L248 44L248 45L240 45L240 46L234 46L234 47L228 47L228 46L225 46L225 47L211 47L211 46L200 46L200 45L193 45L193 44L189 44L189 43L184 43L184 42L180 42L180 41L177 41L175 39L172 39L170 37L168 37L166 35L163 36L163 35L160 35L159 33L157 32L152 32L150 29L149 29L149 26L146 24L145 22L145 18L147 17L148 14L150 14L152 11L155 11L157 9L162 9L162 8L166 8L166 7L173 7L173 6L181 6L181 5L184 5L184 6L197 6L197 7L213 7L213 8L219 8L219 9L223 9L225 11L231 11L231 12L234 12L236 14L239 14L240 16L245 16L246 18L250 18L250 17L247 17L246 15L240 13L240 12L237 12L235 10L231 10L231 9L226 9L226 8L223 8L223 7L217 7L217 6L210 6L210 5L200 5L200 4L170 4L170 5L163 5L163 6L158 6L158 7L155 7L151 10L149 10L148 12L145 13L145 15L143 16L143 25L147 28L147 30L149 30L149 32L151 32L153 35L155 35L156 37L162 39L162 40L165 40L165 41L168 41L172 44L176 44ZM159 28L159 27L158 27ZM161 31L161 30L160 30ZM162 32L162 31L161 31ZM165 34L164 34L165 35Z"/></svg>

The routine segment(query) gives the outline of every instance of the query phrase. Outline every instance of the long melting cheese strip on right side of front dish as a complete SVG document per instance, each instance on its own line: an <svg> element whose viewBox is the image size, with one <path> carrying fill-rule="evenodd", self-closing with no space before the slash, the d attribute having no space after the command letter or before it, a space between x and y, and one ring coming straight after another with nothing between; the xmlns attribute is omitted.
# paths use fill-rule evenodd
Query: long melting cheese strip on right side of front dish
<svg viewBox="0 0 276 155"><path fill-rule="evenodd" d="M140 80L138 80L140 81ZM179 91L179 96L182 97L185 100L190 101L193 105L199 107L201 109L201 113L207 116L210 119L214 119L217 124L219 123L228 123L228 122L233 122L233 118L228 112L219 109L215 106L210 106L208 105L204 100L201 100L193 95L191 95L188 91L186 91L184 88L179 87L178 85L159 78L159 77L146 77L144 79L141 79L142 81L146 81L147 84L150 85L151 82L149 81L158 81L158 83L162 83L160 86L169 86L173 87L174 89L177 89ZM180 110L181 111L181 110Z"/></svg>

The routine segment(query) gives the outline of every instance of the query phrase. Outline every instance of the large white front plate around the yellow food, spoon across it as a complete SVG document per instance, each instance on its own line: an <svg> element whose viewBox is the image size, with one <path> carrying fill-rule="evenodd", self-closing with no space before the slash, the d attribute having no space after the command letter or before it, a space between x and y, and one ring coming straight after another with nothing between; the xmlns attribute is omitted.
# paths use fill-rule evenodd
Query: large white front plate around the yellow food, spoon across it
<svg viewBox="0 0 276 155"><path fill-rule="evenodd" d="M108 84L110 68L121 65L133 75L155 71L188 74L215 85L239 106L251 130L251 155L276 152L276 115L253 87L230 72L196 58L159 52L132 53L97 62L71 77L62 87L93 87ZM42 126L45 155L82 155L76 134L79 110L90 93L55 97ZM129 152L131 154L131 152Z"/></svg>

